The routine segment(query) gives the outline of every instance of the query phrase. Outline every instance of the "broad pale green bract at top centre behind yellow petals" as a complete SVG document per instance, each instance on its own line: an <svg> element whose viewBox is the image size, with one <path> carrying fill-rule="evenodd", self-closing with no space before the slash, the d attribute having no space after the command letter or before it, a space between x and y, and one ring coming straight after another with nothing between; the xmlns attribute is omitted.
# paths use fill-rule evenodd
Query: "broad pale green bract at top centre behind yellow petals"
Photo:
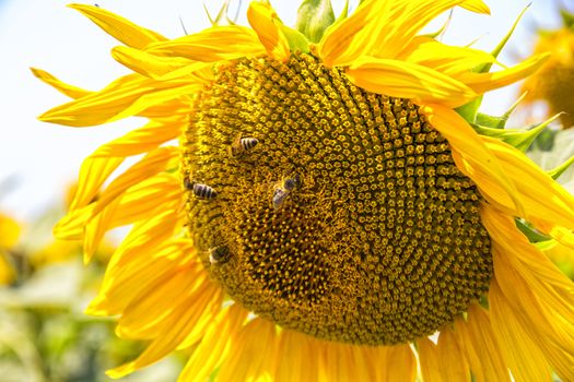
<svg viewBox="0 0 574 382"><path fill-rule="evenodd" d="M303 0L297 11L295 29L311 43L318 43L332 23L335 13L330 0Z"/></svg>

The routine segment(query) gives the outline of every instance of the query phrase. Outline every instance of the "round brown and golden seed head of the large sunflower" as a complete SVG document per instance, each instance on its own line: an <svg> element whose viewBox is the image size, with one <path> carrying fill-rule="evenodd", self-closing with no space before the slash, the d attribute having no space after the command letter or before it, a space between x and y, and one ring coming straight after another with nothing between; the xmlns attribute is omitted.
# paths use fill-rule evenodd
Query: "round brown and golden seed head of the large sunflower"
<svg viewBox="0 0 574 382"><path fill-rule="evenodd" d="M247 309L319 338L389 345L435 332L487 290L481 196L410 100L293 55L222 64L194 110L183 171L218 198L188 191L189 235ZM212 264L210 248L226 261Z"/></svg>

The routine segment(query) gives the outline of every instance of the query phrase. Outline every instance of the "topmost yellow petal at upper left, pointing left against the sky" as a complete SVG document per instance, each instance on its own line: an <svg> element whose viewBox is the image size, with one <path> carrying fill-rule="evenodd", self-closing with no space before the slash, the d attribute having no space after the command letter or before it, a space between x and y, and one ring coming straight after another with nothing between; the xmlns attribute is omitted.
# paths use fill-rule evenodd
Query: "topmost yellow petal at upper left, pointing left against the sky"
<svg viewBox="0 0 574 382"><path fill-rule="evenodd" d="M166 38L162 35L133 24L132 22L106 11L99 7L86 4L68 5L92 20L97 26L104 29L118 41L133 47L143 48L150 43L162 41Z"/></svg>

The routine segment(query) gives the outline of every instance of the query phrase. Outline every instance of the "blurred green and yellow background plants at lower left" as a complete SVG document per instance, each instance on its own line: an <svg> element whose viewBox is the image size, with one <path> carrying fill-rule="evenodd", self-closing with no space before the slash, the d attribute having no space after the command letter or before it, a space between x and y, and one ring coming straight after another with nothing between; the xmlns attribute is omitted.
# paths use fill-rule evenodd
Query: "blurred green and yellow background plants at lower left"
<svg viewBox="0 0 574 382"><path fill-rule="evenodd" d="M137 358L144 348L140 342L118 338L114 320L83 313L114 246L103 244L84 266L81 242L51 237L59 216L63 207L26 224L0 213L2 382L112 381L105 370ZM169 357L124 380L171 382L180 368L181 360Z"/></svg>

